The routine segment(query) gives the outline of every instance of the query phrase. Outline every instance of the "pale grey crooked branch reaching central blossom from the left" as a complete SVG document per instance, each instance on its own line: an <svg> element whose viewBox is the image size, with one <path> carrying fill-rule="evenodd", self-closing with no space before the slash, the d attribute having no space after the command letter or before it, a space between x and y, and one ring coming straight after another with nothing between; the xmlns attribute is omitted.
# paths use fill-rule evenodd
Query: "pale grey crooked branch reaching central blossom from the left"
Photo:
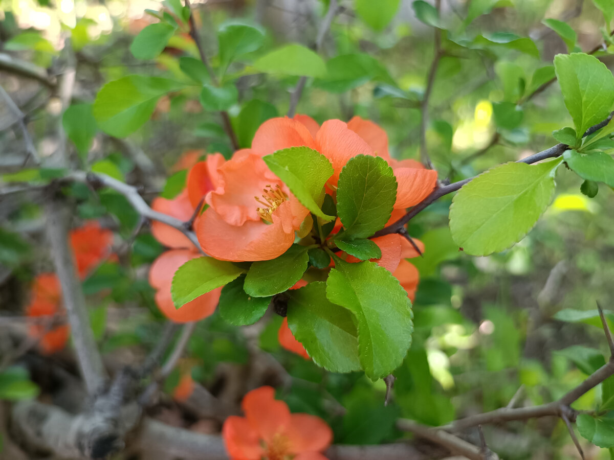
<svg viewBox="0 0 614 460"><path fill-rule="evenodd" d="M149 207L143 197L139 194L136 187L123 183L122 181L112 178L106 174L85 171L74 171L64 177L63 180L74 180L75 182L83 182L90 184L94 187L104 186L121 193L123 196L126 197L126 199L128 199L130 204L133 205L136 212L141 214L143 217L157 220L161 223L165 223L173 228L176 228L177 230L183 232L185 236L187 236L190 241L195 245L196 248L200 249L200 243L198 243L196 234L192 230L188 230L187 228L185 228L184 221L169 216L168 214L157 212L151 209L151 207Z"/></svg>

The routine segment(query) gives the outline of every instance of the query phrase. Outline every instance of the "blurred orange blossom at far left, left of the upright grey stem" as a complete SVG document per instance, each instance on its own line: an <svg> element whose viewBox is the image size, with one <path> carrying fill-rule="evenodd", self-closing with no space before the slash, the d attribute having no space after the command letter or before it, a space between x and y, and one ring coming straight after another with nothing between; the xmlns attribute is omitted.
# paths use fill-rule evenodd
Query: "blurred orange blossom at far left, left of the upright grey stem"
<svg viewBox="0 0 614 460"><path fill-rule="evenodd" d="M61 289L58 277L44 273L34 278L26 315L30 318L55 315L60 310ZM28 334L39 339L39 348L45 355L60 351L68 342L69 328L66 324L49 328L45 324L30 324Z"/></svg>

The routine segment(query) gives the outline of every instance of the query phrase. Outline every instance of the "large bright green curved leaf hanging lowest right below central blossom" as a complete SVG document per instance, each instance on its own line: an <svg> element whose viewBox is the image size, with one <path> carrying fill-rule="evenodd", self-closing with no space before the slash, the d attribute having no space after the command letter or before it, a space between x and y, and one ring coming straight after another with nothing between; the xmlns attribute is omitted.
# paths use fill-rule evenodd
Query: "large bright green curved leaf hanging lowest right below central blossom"
<svg viewBox="0 0 614 460"><path fill-rule="evenodd" d="M375 262L336 261L326 296L356 316L360 363L371 380L386 377L403 362L413 332L411 302L397 278Z"/></svg>

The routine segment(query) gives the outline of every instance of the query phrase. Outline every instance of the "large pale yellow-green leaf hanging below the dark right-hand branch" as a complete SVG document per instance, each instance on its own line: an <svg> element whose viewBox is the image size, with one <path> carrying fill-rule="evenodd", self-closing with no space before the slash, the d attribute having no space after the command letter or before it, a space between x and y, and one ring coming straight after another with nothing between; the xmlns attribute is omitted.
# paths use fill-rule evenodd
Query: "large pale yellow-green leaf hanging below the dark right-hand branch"
<svg viewBox="0 0 614 460"><path fill-rule="evenodd" d="M480 174L454 196L450 230L459 247L485 256L523 239L550 204L561 159L505 163Z"/></svg>

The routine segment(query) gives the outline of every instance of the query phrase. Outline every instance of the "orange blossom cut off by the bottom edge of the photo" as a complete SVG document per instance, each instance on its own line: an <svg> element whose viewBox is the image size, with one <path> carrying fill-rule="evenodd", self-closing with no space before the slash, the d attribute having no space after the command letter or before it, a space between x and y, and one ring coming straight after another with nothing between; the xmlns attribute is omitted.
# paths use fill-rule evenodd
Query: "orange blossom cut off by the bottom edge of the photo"
<svg viewBox="0 0 614 460"><path fill-rule="evenodd" d="M328 425L313 415L291 414L275 391L262 386L247 393L241 407L245 417L230 416L222 437L232 460L325 460L332 442Z"/></svg>

